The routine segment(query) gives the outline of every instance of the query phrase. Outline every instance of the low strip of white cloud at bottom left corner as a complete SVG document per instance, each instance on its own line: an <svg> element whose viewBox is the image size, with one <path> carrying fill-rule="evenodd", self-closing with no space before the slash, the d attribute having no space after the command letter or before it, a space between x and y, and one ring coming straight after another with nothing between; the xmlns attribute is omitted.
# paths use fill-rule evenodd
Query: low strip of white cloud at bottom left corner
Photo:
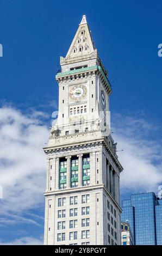
<svg viewBox="0 0 162 256"><path fill-rule="evenodd" d="M0 245L43 245L43 238L36 239L35 237L21 237L11 242L1 242Z"/></svg>

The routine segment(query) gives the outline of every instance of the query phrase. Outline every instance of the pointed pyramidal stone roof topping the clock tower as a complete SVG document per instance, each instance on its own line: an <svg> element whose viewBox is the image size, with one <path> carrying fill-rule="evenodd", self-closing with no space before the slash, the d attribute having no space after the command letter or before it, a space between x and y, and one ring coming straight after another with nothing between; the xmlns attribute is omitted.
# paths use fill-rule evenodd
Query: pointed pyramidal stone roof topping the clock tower
<svg viewBox="0 0 162 256"><path fill-rule="evenodd" d="M74 36L71 46L66 54L66 58L79 58L79 56L81 57L94 52L95 48L91 31L86 21L86 16L83 15L77 33Z"/></svg>

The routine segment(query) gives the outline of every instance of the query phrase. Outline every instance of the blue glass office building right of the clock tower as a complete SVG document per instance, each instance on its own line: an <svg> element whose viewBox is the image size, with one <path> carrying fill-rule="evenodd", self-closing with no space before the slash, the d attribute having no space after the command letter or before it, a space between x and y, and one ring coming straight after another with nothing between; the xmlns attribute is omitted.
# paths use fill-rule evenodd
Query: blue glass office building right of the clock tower
<svg viewBox="0 0 162 256"><path fill-rule="evenodd" d="M121 220L128 222L135 245L162 245L162 201L153 192L122 201Z"/></svg>

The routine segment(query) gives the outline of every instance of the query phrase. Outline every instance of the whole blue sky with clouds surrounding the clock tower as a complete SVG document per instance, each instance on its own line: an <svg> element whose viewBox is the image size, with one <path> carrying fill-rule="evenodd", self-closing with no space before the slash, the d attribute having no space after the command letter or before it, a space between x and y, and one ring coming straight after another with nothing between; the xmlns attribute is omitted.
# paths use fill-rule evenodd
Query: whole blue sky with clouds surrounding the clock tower
<svg viewBox="0 0 162 256"><path fill-rule="evenodd" d="M162 58L158 57L158 45L162 43L161 1L76 4L0 0L0 144L6 145L3 151L9 153L8 157L0 154L4 187L4 199L0 199L1 243L42 242L45 169L44 159L39 162L39 157L43 157L41 148L48 138L51 114L57 109L58 85L54 77L59 57L65 57L83 14L113 85L111 126L118 149L124 149L119 157L126 169L121 180L122 198L132 192L157 193L162 181ZM23 138L21 144L18 137ZM26 147L21 147L22 143ZM35 166L26 163L30 154L38 159ZM33 191L36 187L33 200L28 199L29 187L24 188L23 182L29 182Z"/></svg>

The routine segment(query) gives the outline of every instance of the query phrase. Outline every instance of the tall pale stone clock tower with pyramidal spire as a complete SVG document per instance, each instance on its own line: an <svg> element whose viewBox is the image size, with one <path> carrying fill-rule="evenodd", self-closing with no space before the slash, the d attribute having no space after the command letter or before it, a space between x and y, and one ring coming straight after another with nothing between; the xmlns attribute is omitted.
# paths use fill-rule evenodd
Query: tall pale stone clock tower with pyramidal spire
<svg viewBox="0 0 162 256"><path fill-rule="evenodd" d="M85 15L60 65L58 120L44 148L44 243L120 245L122 166L106 120L111 86Z"/></svg>

